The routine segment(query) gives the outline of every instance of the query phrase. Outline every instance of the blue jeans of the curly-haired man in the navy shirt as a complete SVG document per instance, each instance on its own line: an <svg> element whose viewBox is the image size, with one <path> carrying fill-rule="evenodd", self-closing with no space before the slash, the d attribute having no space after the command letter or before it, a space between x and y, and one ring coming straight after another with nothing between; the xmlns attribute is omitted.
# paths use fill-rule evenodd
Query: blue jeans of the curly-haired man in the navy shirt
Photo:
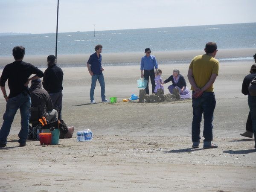
<svg viewBox="0 0 256 192"><path fill-rule="evenodd" d="M105 96L105 81L104 81L104 76L103 74L100 75L96 75L94 74L92 76L92 84L91 84L91 88L90 88L90 100L93 101L94 100L94 90L96 87L96 82L97 80L99 81L100 84L100 88L101 88L101 97L102 97L102 101L105 100L106 96Z"/></svg>

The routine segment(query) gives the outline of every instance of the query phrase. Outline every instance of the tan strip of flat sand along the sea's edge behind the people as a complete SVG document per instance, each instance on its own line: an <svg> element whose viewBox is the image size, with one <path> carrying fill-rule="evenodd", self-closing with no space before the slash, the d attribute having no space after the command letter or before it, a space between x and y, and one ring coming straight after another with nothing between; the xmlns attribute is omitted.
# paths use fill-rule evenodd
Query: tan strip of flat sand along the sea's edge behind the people
<svg viewBox="0 0 256 192"><path fill-rule="evenodd" d="M218 53L215 58L217 58L220 62L243 60L250 61L251 59L253 63L253 55L255 52L256 49L254 48L218 49ZM81 67L86 64L90 54L57 55L57 64L63 67ZM152 55L157 58L157 62L159 64L188 63L193 57L201 54L204 54L204 49L152 52ZM25 55L23 61L31 63L37 67L45 67L47 64L47 56L48 55ZM140 64L140 60L143 56L144 52L104 53L103 50L102 65L137 65ZM14 59L11 56L0 57L0 68L3 68L6 64L12 63L13 61Z"/></svg>

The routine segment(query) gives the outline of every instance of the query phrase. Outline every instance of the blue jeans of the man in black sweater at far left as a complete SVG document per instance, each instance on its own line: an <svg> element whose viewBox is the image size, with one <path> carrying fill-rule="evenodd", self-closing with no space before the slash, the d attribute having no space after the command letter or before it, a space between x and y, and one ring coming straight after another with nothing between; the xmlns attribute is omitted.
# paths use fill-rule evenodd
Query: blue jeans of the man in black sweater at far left
<svg viewBox="0 0 256 192"><path fill-rule="evenodd" d="M19 136L19 143L26 143L26 139L28 137L28 129L29 129L29 118L30 118L30 106L31 99L29 95L24 95L20 93L16 97L12 97L8 99L6 103L6 111L3 114L3 125L0 129L0 143L6 144L7 137L10 133L11 125L14 119L14 116L17 110L20 108L20 116L21 116L21 129Z"/></svg>

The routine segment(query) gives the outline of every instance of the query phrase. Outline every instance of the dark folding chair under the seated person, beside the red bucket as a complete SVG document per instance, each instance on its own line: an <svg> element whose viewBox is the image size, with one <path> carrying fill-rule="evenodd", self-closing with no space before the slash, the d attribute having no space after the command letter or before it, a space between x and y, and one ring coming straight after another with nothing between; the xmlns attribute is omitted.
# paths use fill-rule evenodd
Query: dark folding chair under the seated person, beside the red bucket
<svg viewBox="0 0 256 192"><path fill-rule="evenodd" d="M38 140L39 128L41 128L38 119L42 118L45 111L44 105L38 105L30 108L28 140Z"/></svg>

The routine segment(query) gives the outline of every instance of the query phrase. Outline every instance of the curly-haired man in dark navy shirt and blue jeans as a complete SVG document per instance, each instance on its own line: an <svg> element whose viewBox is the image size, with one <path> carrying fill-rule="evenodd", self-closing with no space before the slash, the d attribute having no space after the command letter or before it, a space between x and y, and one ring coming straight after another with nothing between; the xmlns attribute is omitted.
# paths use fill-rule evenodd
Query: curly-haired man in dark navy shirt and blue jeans
<svg viewBox="0 0 256 192"><path fill-rule="evenodd" d="M90 88L90 104L96 103L93 96L97 80L99 81L101 87L102 102L109 102L105 96L105 81L102 73L102 71L104 71L101 64L102 55L100 54L102 52L102 45L96 45L95 51L96 52L90 55L90 58L87 61L87 68L90 75L92 76L92 84Z"/></svg>

